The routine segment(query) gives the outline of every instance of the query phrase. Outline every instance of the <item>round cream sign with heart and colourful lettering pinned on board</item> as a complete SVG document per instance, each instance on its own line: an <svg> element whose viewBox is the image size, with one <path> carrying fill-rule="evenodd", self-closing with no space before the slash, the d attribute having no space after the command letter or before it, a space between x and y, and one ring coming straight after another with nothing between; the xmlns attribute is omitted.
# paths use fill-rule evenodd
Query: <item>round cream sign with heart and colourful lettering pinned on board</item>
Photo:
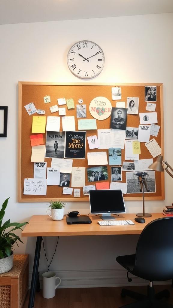
<svg viewBox="0 0 173 308"><path fill-rule="evenodd" d="M112 105L106 97L98 96L91 101L89 111L96 120L105 120L111 115Z"/></svg>

